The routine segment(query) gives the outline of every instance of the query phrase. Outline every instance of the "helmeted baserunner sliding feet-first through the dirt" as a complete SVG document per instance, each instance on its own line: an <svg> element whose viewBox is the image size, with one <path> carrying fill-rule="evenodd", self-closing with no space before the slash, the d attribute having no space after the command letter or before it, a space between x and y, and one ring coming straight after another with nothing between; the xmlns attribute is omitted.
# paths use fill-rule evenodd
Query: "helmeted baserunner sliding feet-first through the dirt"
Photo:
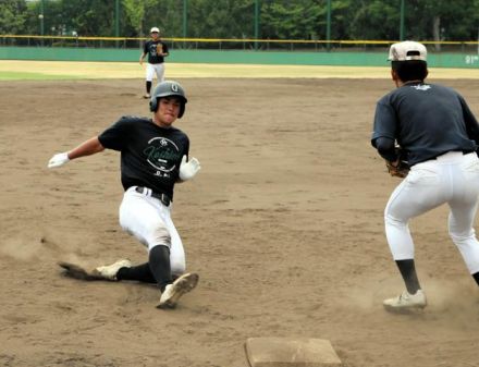
<svg viewBox="0 0 479 367"><path fill-rule="evenodd" d="M50 159L48 168L56 168L106 148L121 151L125 192L120 224L148 248L148 261L135 267L121 259L89 272L60 264L70 276L157 283L161 291L159 308L175 307L179 298L196 286L198 274L185 272L183 244L171 219L175 183L191 180L200 169L196 158L187 159L187 135L172 126L185 112L186 102L180 84L162 82L150 99L152 119L123 117L100 135Z"/></svg>

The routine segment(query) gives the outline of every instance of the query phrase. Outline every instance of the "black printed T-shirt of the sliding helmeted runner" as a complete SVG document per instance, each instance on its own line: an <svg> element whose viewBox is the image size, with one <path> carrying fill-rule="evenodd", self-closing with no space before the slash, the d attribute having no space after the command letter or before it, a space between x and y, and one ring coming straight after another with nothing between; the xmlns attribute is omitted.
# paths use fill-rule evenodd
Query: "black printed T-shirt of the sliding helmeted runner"
<svg viewBox="0 0 479 367"><path fill-rule="evenodd" d="M105 148L121 151L121 181L131 186L146 186L173 199L180 163L189 152L189 139L175 127L163 129L150 119L123 117L98 139Z"/></svg>

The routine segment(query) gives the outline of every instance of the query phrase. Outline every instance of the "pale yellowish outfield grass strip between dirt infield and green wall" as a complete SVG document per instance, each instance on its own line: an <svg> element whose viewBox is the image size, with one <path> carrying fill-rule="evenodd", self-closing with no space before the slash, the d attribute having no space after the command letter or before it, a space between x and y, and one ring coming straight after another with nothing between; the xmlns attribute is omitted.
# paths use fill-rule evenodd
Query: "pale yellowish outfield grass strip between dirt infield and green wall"
<svg viewBox="0 0 479 367"><path fill-rule="evenodd" d="M390 78L388 65L314 66L167 63L168 78L179 77L351 77ZM145 65L136 62L70 62L0 60L0 81L144 78ZM479 78L477 69L431 69L430 78Z"/></svg>

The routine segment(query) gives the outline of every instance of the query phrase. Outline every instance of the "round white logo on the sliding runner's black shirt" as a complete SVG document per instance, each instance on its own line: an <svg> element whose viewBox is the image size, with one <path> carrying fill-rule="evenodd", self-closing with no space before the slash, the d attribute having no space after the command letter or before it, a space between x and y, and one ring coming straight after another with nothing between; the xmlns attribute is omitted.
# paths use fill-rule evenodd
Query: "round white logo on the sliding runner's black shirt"
<svg viewBox="0 0 479 367"><path fill-rule="evenodd" d="M176 168L180 159L180 148L172 140L164 137L153 137L148 142L148 146L143 151L147 162L153 167L157 176L170 176Z"/></svg>

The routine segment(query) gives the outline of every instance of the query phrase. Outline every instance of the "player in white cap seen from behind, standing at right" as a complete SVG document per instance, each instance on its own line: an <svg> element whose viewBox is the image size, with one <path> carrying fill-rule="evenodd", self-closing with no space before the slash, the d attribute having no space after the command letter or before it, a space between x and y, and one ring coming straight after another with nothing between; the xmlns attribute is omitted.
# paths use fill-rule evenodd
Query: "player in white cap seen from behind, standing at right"
<svg viewBox="0 0 479 367"><path fill-rule="evenodd" d="M392 193L384 211L388 243L406 284L389 310L425 307L414 262L408 221L444 203L451 208L449 232L479 284L479 243L472 223L479 195L479 126L455 90L426 84L427 50L404 41L391 46L391 75L396 89L376 108L372 145L392 166L406 155L410 171Z"/></svg>

